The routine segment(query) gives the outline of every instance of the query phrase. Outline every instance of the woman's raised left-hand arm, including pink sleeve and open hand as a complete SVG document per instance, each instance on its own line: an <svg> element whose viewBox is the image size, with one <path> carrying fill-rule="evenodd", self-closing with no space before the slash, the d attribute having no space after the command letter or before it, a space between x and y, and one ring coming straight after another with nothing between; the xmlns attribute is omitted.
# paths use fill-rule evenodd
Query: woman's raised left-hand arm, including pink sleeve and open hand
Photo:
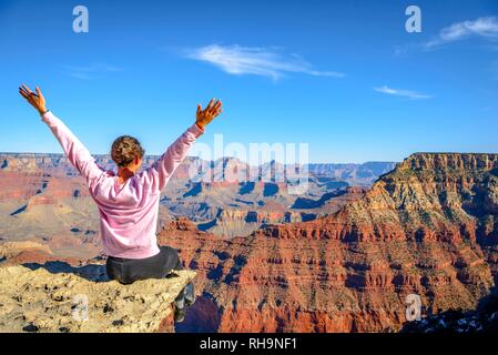
<svg viewBox="0 0 498 355"><path fill-rule="evenodd" d="M45 99L40 89L37 88L35 91L35 93L32 92L26 85L19 88L19 93L40 113L42 121L47 123L53 135L55 135L69 161L87 179L87 182L91 184L102 174L102 169L95 164L95 160L88 149L70 129L53 115L52 112L47 110Z"/></svg>

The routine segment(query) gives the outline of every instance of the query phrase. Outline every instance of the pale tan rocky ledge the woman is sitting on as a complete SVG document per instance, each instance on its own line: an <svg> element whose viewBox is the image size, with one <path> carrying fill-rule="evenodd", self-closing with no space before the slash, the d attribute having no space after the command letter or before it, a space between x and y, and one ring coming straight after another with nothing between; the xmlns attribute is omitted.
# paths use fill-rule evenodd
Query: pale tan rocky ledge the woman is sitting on
<svg viewBox="0 0 498 355"><path fill-rule="evenodd" d="M0 267L0 333L171 331L171 304L194 276L181 271L121 285L43 267Z"/></svg>

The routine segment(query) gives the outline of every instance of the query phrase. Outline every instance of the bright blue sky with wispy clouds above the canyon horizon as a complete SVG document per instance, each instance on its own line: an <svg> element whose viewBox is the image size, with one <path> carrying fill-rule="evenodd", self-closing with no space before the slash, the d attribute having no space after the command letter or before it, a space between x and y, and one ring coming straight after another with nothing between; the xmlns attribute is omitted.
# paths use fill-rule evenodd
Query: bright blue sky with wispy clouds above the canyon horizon
<svg viewBox="0 0 498 355"><path fill-rule="evenodd" d="M308 143L312 162L498 152L496 0L2 0L0 45L3 152L61 152L22 82L93 153L120 134L161 153L212 97L225 112L207 144Z"/></svg>

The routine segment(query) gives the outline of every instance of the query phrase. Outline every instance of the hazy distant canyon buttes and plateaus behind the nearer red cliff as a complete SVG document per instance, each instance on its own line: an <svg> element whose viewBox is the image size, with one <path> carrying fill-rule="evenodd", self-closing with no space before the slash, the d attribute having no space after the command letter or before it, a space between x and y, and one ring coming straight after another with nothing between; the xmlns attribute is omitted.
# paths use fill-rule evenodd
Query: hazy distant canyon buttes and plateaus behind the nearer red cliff
<svg viewBox="0 0 498 355"><path fill-rule="evenodd" d="M144 168L157 158L146 155ZM103 169L114 169L109 155L95 155L95 161ZM199 165L207 169L191 179L191 171ZM187 158L162 193L159 226L175 216L187 216L204 231L240 236L268 223L313 220L358 195L356 190L348 193L347 187L368 187L377 174L392 170L394 163L314 164L309 169L308 190L301 195L289 194L285 180L262 179L283 169L277 165L271 162L250 166L236 159L200 162ZM233 171L241 175L254 175L256 171L261 179L223 181ZM96 207L84 180L67 158L0 153L2 240L44 243L54 253L69 257L90 258L99 253Z"/></svg>

